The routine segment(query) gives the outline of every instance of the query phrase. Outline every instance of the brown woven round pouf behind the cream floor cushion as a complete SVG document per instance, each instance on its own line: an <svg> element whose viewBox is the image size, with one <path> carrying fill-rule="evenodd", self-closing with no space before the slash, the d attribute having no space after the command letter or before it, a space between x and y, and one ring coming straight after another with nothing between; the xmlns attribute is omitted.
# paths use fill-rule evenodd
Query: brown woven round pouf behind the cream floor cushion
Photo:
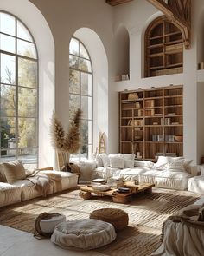
<svg viewBox="0 0 204 256"><path fill-rule="evenodd" d="M124 229L128 226L128 214L121 209L102 208L90 213L90 219L102 220L111 223L116 230Z"/></svg>

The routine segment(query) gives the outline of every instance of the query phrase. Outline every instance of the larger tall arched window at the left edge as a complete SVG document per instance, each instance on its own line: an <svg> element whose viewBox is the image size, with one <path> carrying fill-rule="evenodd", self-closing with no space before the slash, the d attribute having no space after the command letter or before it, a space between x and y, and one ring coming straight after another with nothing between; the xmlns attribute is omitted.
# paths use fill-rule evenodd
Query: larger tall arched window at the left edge
<svg viewBox="0 0 204 256"><path fill-rule="evenodd" d="M0 11L0 161L38 162L38 56L33 36Z"/></svg>

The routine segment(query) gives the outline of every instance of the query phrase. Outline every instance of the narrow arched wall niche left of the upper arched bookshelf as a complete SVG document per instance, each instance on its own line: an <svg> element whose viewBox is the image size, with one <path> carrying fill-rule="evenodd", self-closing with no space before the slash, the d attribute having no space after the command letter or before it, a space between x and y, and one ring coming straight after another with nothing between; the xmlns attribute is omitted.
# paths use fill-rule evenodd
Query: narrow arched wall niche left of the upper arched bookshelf
<svg viewBox="0 0 204 256"><path fill-rule="evenodd" d="M123 24L118 26L114 35L114 66L116 80L128 79L130 75L130 36Z"/></svg>

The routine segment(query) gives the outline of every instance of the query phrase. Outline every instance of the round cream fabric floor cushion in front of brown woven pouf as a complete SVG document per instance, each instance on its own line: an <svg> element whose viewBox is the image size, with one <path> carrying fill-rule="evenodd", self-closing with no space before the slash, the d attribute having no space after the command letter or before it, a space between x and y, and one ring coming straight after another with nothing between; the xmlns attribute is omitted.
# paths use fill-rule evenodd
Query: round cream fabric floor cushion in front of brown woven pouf
<svg viewBox="0 0 204 256"><path fill-rule="evenodd" d="M66 249L91 250L116 238L114 226L101 220L71 220L55 227L51 241Z"/></svg>

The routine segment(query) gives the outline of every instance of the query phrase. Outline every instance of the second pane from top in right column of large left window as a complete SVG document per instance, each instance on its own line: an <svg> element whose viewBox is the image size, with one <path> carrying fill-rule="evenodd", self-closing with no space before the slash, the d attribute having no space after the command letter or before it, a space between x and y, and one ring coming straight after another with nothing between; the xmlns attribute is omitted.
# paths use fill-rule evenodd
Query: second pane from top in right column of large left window
<svg viewBox="0 0 204 256"><path fill-rule="evenodd" d="M21 56L36 58L37 55L35 51L35 44L17 39L17 54Z"/></svg>

